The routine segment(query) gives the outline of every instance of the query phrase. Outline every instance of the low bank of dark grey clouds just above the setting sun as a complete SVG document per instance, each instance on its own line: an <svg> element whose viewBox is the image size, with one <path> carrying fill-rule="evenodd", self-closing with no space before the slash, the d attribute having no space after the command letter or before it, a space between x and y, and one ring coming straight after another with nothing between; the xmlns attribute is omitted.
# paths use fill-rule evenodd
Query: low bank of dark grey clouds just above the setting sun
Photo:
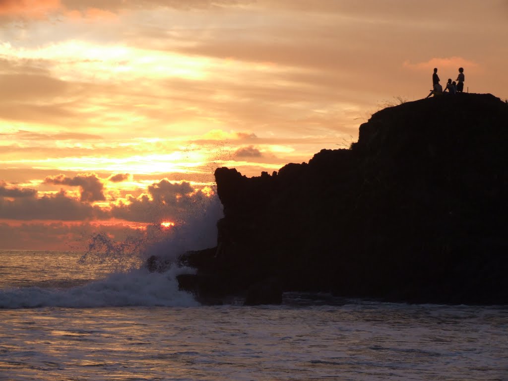
<svg viewBox="0 0 508 381"><path fill-rule="evenodd" d="M45 182L84 186L88 190L83 193L88 195L90 192L97 193L99 188L99 179L94 175L75 177L57 175L46 178ZM95 186L97 189L92 191L90 186ZM164 179L148 186L147 192L148 194L142 194L139 197L128 196L125 203L101 208L91 206L90 199L79 201L71 198L63 189L56 195L37 198L34 194L35 190L8 188L0 184L0 196L4 196L0 197L0 219L77 221L107 220L113 217L126 221L155 223L162 219L181 220L188 215L200 213L210 202L210 198L199 187L193 187L185 181L172 183ZM102 195L102 193L98 194Z"/></svg>

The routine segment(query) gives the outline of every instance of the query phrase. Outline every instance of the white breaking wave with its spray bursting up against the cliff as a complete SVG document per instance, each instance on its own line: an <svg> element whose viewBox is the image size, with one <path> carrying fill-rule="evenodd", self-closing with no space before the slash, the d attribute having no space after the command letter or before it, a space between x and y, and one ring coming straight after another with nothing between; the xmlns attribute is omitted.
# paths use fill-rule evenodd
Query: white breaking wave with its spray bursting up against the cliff
<svg viewBox="0 0 508 381"><path fill-rule="evenodd" d="M216 195L206 203L193 206L189 209L192 213L182 215L175 226L167 230L162 229L160 223L154 224L146 234L128 237L121 242L112 240L105 233L94 234L78 266L106 264L111 269L110 274L72 287L38 285L2 289L0 308L199 305L192 294L178 289L176 276L195 270L178 266L177 259L185 251L216 244L216 223L223 211ZM163 272L150 273L145 267L150 256L171 265ZM59 260L64 259L59 257ZM65 264L61 263L61 269L65 271Z"/></svg>

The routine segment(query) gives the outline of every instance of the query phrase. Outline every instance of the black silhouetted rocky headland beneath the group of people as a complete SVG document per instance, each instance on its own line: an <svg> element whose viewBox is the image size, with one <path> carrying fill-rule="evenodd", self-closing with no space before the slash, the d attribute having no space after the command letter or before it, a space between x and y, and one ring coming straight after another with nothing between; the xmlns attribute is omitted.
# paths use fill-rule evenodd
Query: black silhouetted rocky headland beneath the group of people
<svg viewBox="0 0 508 381"><path fill-rule="evenodd" d="M350 149L308 164L252 178L218 168L218 246L182 261L216 296L275 279L283 291L507 303L507 165L508 105L491 94L386 108Z"/></svg>

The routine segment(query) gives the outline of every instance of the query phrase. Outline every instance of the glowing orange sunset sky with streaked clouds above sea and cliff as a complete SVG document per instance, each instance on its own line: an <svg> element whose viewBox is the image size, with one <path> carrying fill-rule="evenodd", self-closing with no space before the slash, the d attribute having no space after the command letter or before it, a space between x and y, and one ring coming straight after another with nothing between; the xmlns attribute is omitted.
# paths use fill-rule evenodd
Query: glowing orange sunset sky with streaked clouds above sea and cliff
<svg viewBox="0 0 508 381"><path fill-rule="evenodd" d="M177 223L215 168L347 148L434 67L508 98L507 25L506 0L0 0L0 249Z"/></svg>

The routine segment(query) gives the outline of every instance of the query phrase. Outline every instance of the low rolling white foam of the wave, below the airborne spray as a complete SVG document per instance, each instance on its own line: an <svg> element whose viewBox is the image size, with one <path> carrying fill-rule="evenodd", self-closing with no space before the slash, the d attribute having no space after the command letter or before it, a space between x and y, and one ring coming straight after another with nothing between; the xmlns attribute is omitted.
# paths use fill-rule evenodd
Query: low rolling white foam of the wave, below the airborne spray
<svg viewBox="0 0 508 381"><path fill-rule="evenodd" d="M66 290L4 289L0 290L0 308L197 306L199 303L192 294L178 290L176 275L189 271L176 266L165 273L139 269Z"/></svg>

